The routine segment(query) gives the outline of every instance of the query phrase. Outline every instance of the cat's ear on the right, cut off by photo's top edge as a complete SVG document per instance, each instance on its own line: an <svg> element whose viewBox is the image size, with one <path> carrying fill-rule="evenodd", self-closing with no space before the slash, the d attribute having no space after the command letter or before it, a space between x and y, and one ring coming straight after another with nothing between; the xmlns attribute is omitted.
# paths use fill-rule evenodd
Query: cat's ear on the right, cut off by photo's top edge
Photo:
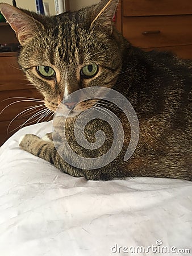
<svg viewBox="0 0 192 256"><path fill-rule="evenodd" d="M91 22L91 29L99 27L106 32L112 34L112 19L118 6L119 0L103 0L96 6L93 22Z"/></svg>

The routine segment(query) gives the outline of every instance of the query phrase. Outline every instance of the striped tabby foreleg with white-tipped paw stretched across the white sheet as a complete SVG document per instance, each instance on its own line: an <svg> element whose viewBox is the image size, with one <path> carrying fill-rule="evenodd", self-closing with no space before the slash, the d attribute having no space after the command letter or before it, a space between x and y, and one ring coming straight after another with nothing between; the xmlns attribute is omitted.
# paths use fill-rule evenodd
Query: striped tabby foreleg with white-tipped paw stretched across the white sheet
<svg viewBox="0 0 192 256"><path fill-rule="evenodd" d="M52 141L44 141L34 134L26 134L20 138L19 146L23 150L26 150L39 158L47 160L66 174L75 177L84 177L82 170L70 166L61 158L61 156L57 153Z"/></svg>

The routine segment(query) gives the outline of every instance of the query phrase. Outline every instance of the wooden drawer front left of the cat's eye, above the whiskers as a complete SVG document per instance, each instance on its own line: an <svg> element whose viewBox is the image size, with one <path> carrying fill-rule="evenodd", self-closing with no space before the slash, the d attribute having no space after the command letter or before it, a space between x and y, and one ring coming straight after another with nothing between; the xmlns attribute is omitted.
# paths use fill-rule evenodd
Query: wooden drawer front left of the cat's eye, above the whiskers
<svg viewBox="0 0 192 256"><path fill-rule="evenodd" d="M32 85L20 70L16 56L1 56L0 53L0 91L31 88Z"/></svg>

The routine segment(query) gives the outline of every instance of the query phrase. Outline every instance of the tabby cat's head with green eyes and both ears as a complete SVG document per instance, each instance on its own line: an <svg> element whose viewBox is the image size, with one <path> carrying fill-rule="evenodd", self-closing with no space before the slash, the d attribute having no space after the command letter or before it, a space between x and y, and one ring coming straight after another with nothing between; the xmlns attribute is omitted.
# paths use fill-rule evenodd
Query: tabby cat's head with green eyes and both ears
<svg viewBox="0 0 192 256"><path fill-rule="evenodd" d="M19 64L43 94L47 108L55 111L78 89L115 84L122 67L112 23L117 5L118 0L103 0L73 13L46 17L0 4L22 46ZM75 103L66 101L66 109ZM93 104L82 102L73 113Z"/></svg>

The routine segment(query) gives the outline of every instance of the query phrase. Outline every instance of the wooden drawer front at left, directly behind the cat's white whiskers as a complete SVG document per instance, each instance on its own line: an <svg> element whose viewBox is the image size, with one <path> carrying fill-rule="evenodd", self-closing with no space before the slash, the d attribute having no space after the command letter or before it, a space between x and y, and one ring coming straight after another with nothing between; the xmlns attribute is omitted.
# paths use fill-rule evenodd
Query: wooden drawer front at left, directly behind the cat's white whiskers
<svg viewBox="0 0 192 256"><path fill-rule="evenodd" d="M10 100L6 100L7 98L18 97ZM31 106L41 105L43 102L34 102L34 101L27 101L25 98L20 97L29 97L29 98L42 98L42 96L37 92L36 89L26 89L26 90L10 90L10 91L2 91L0 92L0 113L6 106L9 104L22 101L15 104L10 105L7 107L1 114L0 114L0 121L9 121L18 115L23 110L30 108ZM41 108L38 108L41 109ZM35 110L35 109L34 109ZM26 115L28 112L25 112ZM23 119L26 118L26 115L19 115L16 119ZM29 114L28 117L31 117L32 114Z"/></svg>

